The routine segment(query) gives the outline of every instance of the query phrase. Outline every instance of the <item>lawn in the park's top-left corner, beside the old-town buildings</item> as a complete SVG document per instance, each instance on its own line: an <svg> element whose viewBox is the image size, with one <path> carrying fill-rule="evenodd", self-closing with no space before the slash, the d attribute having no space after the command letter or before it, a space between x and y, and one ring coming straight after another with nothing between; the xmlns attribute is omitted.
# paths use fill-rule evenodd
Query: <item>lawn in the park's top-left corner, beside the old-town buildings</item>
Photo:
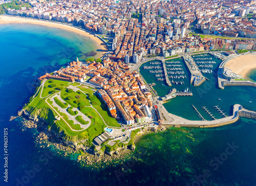
<svg viewBox="0 0 256 186"><path fill-rule="evenodd" d="M50 83L50 82L52 82L52 83ZM52 85L52 84L56 84L56 86L51 88L50 85ZM45 82L44 89L42 90L42 98L47 97L49 94L51 94L50 92L53 90L59 91L57 89L58 87L65 89L66 87L68 87L68 84L70 84L70 82L68 82L68 81L60 81L60 80L52 80L52 79L47 80ZM40 94L41 94L41 92L40 92Z"/></svg>

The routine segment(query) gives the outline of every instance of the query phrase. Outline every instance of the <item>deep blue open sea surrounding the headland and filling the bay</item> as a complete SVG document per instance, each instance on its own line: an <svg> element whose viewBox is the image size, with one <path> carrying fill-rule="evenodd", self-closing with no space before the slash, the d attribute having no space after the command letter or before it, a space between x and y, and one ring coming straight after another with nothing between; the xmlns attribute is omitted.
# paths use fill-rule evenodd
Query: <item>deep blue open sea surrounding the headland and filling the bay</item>
<svg viewBox="0 0 256 186"><path fill-rule="evenodd" d="M218 128L170 128L145 135L127 160L114 161L100 170L81 167L74 157L56 155L55 149L38 147L35 129L25 129L18 120L9 121L33 95L34 80L95 50L89 39L68 31L0 25L0 185L256 185L253 120L241 119ZM212 91L216 93L215 88ZM230 94L228 88L224 90L223 94ZM231 90L237 90L239 100L243 96L244 102L255 100L255 88L245 88L249 92L241 87ZM176 102L191 105L187 100ZM168 104L172 108L172 103ZM4 181L4 128L8 128L8 183Z"/></svg>

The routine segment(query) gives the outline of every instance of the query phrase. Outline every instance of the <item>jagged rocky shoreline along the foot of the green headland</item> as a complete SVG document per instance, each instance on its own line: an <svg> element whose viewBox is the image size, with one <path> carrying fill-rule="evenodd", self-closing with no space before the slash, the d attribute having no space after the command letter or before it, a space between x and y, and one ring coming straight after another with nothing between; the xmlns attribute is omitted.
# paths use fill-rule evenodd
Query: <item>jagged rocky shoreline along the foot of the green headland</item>
<svg viewBox="0 0 256 186"><path fill-rule="evenodd" d="M25 128L36 128L39 134L36 136L35 143L40 148L50 148L54 147L59 152L58 154L63 156L73 155L75 153L80 154L77 157L77 161L80 162L82 166L93 166L95 168L100 168L102 164L110 165L113 160L121 160L127 158L135 150L135 145L124 146L123 148L117 148L114 151L96 151L94 146L86 146L84 143L87 140L81 140L77 142L70 142L63 139L60 134L55 133L48 129L48 124L44 119L38 119L31 117L28 111L22 109L18 112L17 117L11 117L10 120L16 118L21 119L21 123ZM162 128L160 130L164 130ZM139 132L139 135L134 137L134 142L137 142L140 137L145 134L152 132L157 132L158 130L144 129Z"/></svg>

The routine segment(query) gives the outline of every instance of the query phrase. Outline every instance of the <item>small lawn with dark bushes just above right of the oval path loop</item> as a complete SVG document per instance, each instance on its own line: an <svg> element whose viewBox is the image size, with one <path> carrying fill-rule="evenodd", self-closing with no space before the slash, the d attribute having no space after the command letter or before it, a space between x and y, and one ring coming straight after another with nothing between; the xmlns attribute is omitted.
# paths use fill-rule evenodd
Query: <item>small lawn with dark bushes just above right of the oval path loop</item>
<svg viewBox="0 0 256 186"><path fill-rule="evenodd" d="M78 92L80 92L80 94L78 94ZM62 98L62 100L66 101L69 105L71 105L74 108L78 107L78 102L75 103L75 101L78 101L78 99L76 98L76 96L80 96L79 100L81 102L84 102L84 104L86 106L90 106L90 101L87 99L87 95L84 95L81 91L72 91L72 92L67 92L67 88L65 90L62 90L60 92L60 97ZM67 97L71 97L71 100L68 100Z"/></svg>

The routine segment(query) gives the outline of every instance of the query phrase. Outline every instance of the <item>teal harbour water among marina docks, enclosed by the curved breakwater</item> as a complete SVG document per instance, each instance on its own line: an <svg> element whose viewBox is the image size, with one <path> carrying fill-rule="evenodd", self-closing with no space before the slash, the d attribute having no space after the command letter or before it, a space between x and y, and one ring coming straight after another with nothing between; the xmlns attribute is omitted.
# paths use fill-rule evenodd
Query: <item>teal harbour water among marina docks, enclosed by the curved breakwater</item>
<svg viewBox="0 0 256 186"><path fill-rule="evenodd" d="M198 111L200 112L200 114L203 116L203 118L205 120L211 121L212 118L210 117L210 115L207 114L207 112L205 112L203 109L201 110L201 107L205 106L209 110L209 112L212 112L211 115L216 120L219 120L219 119L223 118L224 116L222 116L218 112L217 109L213 108L213 106L219 105L218 107L220 108L220 110L224 110L223 113L226 116L231 115L230 105L234 105L237 102L230 95L236 95L237 94L237 89L239 89L240 91L243 91L243 92L245 91L245 89L248 92L251 91L250 90L250 89L252 89L251 87L244 87L244 86L241 87L241 88L240 87L236 87L236 88L235 87L229 87L228 95L225 94L223 96L221 94L221 92L219 92L220 89L219 88L216 89L215 85L211 84L211 86L209 86L209 87L207 86L210 90L206 89L207 94L205 94L206 91L204 89L204 85L213 82L212 79L215 78L214 73L218 72L218 65L222 62L221 60L219 60L219 59L217 59L214 56L209 55L209 54L204 54L204 56L193 57L193 58L205 58L205 57L207 57L207 58L211 57L212 60L209 60L209 61L215 61L216 63L198 64L198 68L201 68L201 67L210 68L210 70L212 70L212 73L211 74L205 74L205 79L208 79L208 81L205 81L201 86L197 86L197 87L194 87L194 86L190 85L189 68L187 68L187 65L185 64L185 61L183 60L183 58L176 58L176 59L170 59L170 60L165 61L166 68L182 68L182 70L178 70L178 71L184 71L185 74L181 74L181 75L176 74L176 75L187 77L187 78L184 78L184 79L172 79L172 77L168 77L170 83L172 83L172 86L174 88L176 88L177 91L184 91L188 87L189 90L191 92L193 92L193 97L191 97L191 96L177 96L176 95L176 98L172 99L172 101L163 102L163 106L166 108L166 110L168 110L168 112L176 114L176 115L180 115L181 117L184 117L184 118L189 119L189 120L201 120L201 119L198 118L197 114L187 115L186 114L187 112L186 113L183 112L184 110L188 110L189 112L195 112L194 108L191 106L191 105L194 105L198 109ZM180 63L173 63L173 62L178 61L178 60L180 61ZM200 60L198 60L198 61L200 61ZM152 61L152 62L154 62L154 61ZM169 67L167 67L167 65L175 65L175 64L176 65L181 65L181 66L169 66ZM154 66L158 66L158 65L160 65L160 64L155 64ZM200 65L209 65L209 66L200 66ZM212 65L212 66L210 66L210 65ZM145 80L148 83L155 82L156 85L154 86L154 90L157 91L158 98L161 98L161 97L164 97L164 96L168 95L170 88L164 82L165 81L164 73L155 73L155 74L154 73L148 73L150 70L151 71L156 71L157 69L143 69L143 66L153 66L153 64L150 64L150 62L146 62L146 63L142 64L142 66L140 67L141 68L140 73L142 74L142 76L145 78ZM169 69L167 69L168 76L176 76L175 74L173 74L173 72L175 72L175 69L174 69L174 71L170 71ZM162 81L158 81L157 78L160 78L160 80L162 80ZM161 79L161 78L163 78L163 79ZM196 77L196 78L200 78L200 77ZM200 82L200 81L198 81L198 82ZM244 94L247 94L246 92L244 92ZM179 95L189 95L189 93L184 94L184 92L183 92L183 94L179 94ZM220 98L221 100L218 100L218 98ZM225 100L225 103L222 100ZM252 100L252 102L253 102L254 97L250 96L248 98L248 100ZM191 104L187 105L186 103L191 103ZM202 103L204 105L202 105ZM246 102L246 103L243 103L243 104L245 105L245 107L252 109L251 108L252 104L250 102Z"/></svg>

